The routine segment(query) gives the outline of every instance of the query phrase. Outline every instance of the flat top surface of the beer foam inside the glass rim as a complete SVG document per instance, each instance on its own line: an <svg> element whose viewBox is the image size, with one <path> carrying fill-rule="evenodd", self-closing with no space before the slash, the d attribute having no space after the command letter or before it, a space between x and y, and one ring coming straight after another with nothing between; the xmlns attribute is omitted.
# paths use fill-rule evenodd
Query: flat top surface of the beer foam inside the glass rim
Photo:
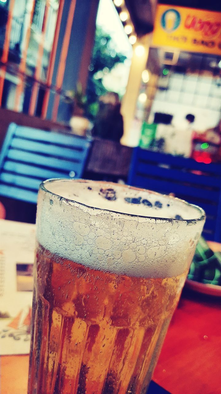
<svg viewBox="0 0 221 394"><path fill-rule="evenodd" d="M89 189L88 189L89 188ZM119 213L175 219L176 215L182 219L197 219L202 212L190 204L182 203L178 199L169 198L155 192L128 188L119 184L102 182L76 182L60 180L48 182L47 189L66 199L77 201L90 207L112 210ZM107 190L114 190L113 192ZM104 190L103 192L101 190ZM113 198L116 200L113 200ZM108 199L109 198L109 199ZM137 199L137 203L128 203L127 199ZM147 204L152 204L152 207ZM160 204L162 207L159 208Z"/></svg>

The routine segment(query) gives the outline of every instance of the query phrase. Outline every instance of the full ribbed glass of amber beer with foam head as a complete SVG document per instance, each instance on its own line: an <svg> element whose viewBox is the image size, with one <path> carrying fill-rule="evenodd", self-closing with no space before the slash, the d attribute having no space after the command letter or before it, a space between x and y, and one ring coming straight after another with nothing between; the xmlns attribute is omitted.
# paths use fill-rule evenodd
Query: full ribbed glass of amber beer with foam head
<svg viewBox="0 0 221 394"><path fill-rule="evenodd" d="M43 182L28 393L145 393L204 218L130 186Z"/></svg>

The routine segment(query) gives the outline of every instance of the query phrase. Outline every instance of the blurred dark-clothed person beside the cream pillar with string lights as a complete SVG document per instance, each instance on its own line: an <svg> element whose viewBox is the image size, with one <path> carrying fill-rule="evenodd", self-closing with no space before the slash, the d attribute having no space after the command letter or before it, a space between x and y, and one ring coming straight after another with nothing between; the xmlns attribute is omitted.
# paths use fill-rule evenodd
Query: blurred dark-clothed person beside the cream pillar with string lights
<svg viewBox="0 0 221 394"><path fill-rule="evenodd" d="M92 136L120 142L123 136L123 117L117 93L109 92L99 97L99 110L94 121Z"/></svg>

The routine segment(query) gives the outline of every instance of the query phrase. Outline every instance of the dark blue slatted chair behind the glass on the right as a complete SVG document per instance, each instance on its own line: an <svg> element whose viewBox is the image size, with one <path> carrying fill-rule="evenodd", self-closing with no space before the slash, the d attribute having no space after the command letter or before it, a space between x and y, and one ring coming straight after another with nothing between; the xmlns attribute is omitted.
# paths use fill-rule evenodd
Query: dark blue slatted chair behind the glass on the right
<svg viewBox="0 0 221 394"><path fill-rule="evenodd" d="M203 236L221 242L221 165L134 148L128 184L176 197L206 212Z"/></svg>

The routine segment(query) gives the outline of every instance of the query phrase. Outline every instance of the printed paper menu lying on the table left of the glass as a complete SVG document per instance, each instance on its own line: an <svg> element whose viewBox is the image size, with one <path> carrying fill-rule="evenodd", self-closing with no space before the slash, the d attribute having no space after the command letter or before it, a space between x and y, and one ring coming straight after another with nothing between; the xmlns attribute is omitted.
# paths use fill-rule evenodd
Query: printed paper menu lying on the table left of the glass
<svg viewBox="0 0 221 394"><path fill-rule="evenodd" d="M28 354L35 225L0 220L0 354Z"/></svg>

